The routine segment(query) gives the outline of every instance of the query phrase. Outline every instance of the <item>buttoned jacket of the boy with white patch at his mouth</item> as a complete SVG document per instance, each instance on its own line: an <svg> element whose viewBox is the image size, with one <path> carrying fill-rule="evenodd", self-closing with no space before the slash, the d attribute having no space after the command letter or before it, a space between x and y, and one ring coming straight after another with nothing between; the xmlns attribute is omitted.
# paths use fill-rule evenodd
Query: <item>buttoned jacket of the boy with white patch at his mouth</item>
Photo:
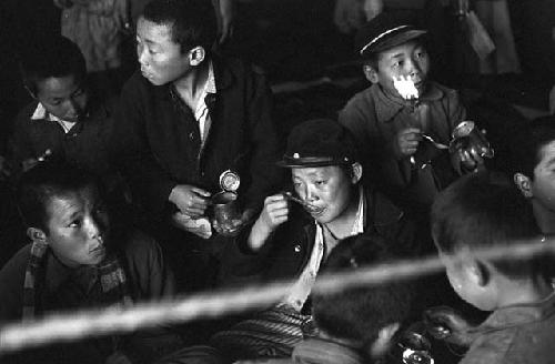
<svg viewBox="0 0 555 364"><path fill-rule="evenodd" d="M395 158L394 140L400 131L417 127L435 141L448 144L451 132L465 120L466 111L455 90L435 82L430 82L420 101L415 109L374 84L349 100L339 120L353 132L364 155L364 171L374 178L375 185L395 202L431 205L437 191L456 178L448 153L423 141L414 154L414 168L408 158Z"/></svg>

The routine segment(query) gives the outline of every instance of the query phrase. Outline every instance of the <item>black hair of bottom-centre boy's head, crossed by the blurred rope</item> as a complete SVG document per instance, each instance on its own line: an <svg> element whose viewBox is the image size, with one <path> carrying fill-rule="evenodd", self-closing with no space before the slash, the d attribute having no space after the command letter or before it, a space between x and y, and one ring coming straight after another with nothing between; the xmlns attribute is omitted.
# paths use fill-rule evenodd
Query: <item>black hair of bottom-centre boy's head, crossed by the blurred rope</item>
<svg viewBox="0 0 555 364"><path fill-rule="evenodd" d="M377 235L347 237L330 253L323 273L346 272L370 264L385 263L395 255L391 243ZM312 295L316 325L339 338L362 341L365 347L381 328L405 322L415 309L414 282L398 281L370 287Z"/></svg>

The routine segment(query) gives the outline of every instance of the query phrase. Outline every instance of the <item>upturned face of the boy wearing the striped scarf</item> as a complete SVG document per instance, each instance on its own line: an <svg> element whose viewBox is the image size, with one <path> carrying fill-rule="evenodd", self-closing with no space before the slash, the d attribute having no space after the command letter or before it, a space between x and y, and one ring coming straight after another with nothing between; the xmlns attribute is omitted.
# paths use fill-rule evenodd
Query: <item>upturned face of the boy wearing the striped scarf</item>
<svg viewBox="0 0 555 364"><path fill-rule="evenodd" d="M65 265L94 265L105 256L109 219L97 188L87 186L50 199L47 243Z"/></svg>

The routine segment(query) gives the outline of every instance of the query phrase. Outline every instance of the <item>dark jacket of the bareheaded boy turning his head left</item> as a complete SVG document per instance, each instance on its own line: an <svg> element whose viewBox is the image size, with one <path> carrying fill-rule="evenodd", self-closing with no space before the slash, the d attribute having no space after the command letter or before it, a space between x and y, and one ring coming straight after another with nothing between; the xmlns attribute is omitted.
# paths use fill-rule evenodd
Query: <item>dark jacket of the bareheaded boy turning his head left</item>
<svg viewBox="0 0 555 364"><path fill-rule="evenodd" d="M225 170L241 176L248 206L262 204L280 181L279 142L264 75L239 60L213 57L215 98L205 100L212 124L201 150L198 121L172 98L171 84L152 85L137 72L123 87L114 146L142 203L162 213L178 184L212 193Z"/></svg>

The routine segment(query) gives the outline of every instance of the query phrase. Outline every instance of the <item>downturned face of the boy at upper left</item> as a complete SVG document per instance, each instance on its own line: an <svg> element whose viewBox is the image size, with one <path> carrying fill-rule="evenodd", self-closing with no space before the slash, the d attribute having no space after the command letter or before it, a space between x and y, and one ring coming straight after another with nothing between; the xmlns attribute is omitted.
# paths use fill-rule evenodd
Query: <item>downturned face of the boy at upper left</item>
<svg viewBox="0 0 555 364"><path fill-rule="evenodd" d="M48 78L37 82L37 99L54 117L75 122L87 110L89 94L75 75Z"/></svg>

